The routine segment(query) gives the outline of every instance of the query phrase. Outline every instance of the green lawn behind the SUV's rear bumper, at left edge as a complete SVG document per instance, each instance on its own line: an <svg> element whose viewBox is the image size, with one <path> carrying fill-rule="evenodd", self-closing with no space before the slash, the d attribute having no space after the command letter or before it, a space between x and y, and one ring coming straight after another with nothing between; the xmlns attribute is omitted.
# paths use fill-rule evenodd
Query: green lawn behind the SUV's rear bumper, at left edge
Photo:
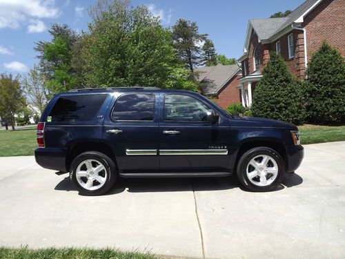
<svg viewBox="0 0 345 259"><path fill-rule="evenodd" d="M35 128L0 131L0 157L34 155L34 148L37 148Z"/></svg>

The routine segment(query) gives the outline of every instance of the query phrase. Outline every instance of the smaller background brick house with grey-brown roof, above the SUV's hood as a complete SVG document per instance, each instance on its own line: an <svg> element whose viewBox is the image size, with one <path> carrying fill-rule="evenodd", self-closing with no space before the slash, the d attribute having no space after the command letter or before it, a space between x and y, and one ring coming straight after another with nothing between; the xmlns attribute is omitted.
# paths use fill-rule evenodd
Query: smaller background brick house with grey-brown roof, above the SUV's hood
<svg viewBox="0 0 345 259"><path fill-rule="evenodd" d="M215 102L226 108L229 104L241 103L241 95L238 79L242 77L241 68L237 65L217 64L217 66L205 66L196 68L201 82L203 95L215 98Z"/></svg>

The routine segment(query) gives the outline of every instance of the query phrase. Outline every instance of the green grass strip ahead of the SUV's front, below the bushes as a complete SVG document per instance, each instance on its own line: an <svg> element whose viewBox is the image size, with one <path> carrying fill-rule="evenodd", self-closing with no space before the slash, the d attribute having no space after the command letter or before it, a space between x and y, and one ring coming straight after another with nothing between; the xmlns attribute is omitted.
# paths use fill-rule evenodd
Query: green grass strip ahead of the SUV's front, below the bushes
<svg viewBox="0 0 345 259"><path fill-rule="evenodd" d="M298 126L301 133L302 145L345 141L345 126L319 126L319 125L302 125Z"/></svg>

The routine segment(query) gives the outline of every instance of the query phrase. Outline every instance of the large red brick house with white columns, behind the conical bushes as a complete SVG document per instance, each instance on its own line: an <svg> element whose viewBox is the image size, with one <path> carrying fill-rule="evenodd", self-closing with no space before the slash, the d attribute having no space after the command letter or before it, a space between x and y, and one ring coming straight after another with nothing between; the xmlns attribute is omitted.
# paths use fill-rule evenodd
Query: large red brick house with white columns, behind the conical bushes
<svg viewBox="0 0 345 259"><path fill-rule="evenodd" d="M306 66L322 41L345 55L345 1L307 0L287 17L250 19L246 32L242 63L242 78L238 88L242 105L250 106L262 67L275 51L287 61L291 72L303 79Z"/></svg>

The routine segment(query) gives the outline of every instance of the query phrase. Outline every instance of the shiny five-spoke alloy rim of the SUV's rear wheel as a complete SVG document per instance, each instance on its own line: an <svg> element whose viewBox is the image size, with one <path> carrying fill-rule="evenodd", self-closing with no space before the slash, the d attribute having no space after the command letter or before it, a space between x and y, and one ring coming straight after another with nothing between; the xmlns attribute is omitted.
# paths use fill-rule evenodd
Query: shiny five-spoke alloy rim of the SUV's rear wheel
<svg viewBox="0 0 345 259"><path fill-rule="evenodd" d="M83 160L75 172L78 184L88 191L95 191L106 183L107 171L97 160Z"/></svg>

